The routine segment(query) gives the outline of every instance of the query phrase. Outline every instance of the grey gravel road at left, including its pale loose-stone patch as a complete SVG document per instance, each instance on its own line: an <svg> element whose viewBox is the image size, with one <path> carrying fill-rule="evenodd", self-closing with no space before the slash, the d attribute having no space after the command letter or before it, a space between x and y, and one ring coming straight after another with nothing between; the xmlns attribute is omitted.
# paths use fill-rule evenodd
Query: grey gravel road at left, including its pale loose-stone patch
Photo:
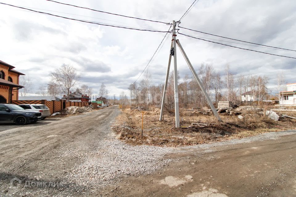
<svg viewBox="0 0 296 197"><path fill-rule="evenodd" d="M133 147L115 139L110 128L119 113L114 106L24 127L2 125L0 196L89 196L167 165L170 159L163 156L173 149ZM10 187L15 177L22 183ZM46 187L36 186L40 183Z"/></svg>

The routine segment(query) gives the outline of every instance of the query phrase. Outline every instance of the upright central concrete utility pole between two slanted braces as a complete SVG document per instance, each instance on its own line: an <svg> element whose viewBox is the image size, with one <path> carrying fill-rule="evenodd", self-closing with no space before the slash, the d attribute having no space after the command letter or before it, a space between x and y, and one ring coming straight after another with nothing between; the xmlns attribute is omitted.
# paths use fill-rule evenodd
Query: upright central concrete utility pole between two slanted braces
<svg viewBox="0 0 296 197"><path fill-rule="evenodd" d="M176 22L173 21L175 122L176 122L176 128L180 128L176 36L177 36L177 34L176 34Z"/></svg>

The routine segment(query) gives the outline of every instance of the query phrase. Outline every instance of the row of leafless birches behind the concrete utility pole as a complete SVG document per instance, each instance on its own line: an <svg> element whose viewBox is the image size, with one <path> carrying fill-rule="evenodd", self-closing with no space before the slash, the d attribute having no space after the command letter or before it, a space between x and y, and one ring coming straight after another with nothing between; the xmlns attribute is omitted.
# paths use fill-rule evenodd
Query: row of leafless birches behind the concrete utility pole
<svg viewBox="0 0 296 197"><path fill-rule="evenodd" d="M202 63L197 70L199 78L206 92L213 102L233 101L241 102L242 94L249 92L254 101L261 101L268 95L268 77L262 75L235 75L230 70L230 65L226 64L224 72L217 72L212 64ZM139 83L131 84L128 89L131 91L132 103L134 105L159 106L161 104L164 84L152 84L152 75L148 70L144 73L143 79ZM206 98L200 89L193 75L186 74L179 80L178 92L179 105L181 107L208 107ZM130 94L130 93L129 93ZM170 73L166 92L166 108L174 108L174 74ZM125 101L130 102L130 101Z"/></svg>

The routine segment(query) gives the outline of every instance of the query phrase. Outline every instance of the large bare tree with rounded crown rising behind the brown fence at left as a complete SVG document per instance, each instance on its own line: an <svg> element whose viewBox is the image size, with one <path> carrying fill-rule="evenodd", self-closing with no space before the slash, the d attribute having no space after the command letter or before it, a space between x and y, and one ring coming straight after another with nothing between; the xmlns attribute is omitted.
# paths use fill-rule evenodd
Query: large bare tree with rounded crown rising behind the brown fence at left
<svg viewBox="0 0 296 197"><path fill-rule="evenodd" d="M76 68L63 64L61 67L57 68L55 72L52 72L50 76L51 81L56 82L60 86L60 89L63 93L67 94L69 100L70 89L80 78Z"/></svg>

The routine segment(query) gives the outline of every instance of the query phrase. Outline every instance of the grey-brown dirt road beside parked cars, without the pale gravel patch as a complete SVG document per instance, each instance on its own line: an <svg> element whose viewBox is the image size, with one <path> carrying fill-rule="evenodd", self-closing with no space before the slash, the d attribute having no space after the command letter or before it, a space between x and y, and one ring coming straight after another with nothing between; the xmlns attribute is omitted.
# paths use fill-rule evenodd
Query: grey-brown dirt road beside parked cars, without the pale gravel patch
<svg viewBox="0 0 296 197"><path fill-rule="evenodd" d="M64 196L55 188L23 187L25 180L58 182L85 160L101 136L108 135L118 107L67 118L45 119L26 126L0 126L0 196ZM98 129L100 128L100 129ZM9 188L13 178L22 180ZM49 190L49 191L48 191ZM43 191L45 194L43 194Z"/></svg>

